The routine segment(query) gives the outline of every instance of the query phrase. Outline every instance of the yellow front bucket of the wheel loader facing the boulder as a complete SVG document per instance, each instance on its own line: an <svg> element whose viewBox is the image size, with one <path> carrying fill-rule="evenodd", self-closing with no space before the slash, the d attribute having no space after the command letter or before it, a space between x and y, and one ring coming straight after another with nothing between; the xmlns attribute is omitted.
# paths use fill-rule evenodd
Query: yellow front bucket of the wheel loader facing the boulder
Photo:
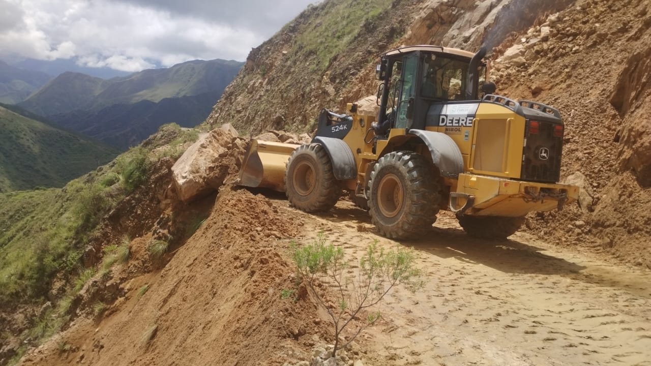
<svg viewBox="0 0 651 366"><path fill-rule="evenodd" d="M284 192L284 172L289 156L300 145L251 141L242 170L240 186L265 187Z"/></svg>

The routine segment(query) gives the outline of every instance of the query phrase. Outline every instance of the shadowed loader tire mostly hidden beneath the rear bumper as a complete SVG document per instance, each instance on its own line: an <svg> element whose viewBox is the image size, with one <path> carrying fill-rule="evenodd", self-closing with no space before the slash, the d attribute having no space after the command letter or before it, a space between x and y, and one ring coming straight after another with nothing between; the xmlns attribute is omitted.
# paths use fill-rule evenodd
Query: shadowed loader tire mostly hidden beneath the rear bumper
<svg viewBox="0 0 651 366"><path fill-rule="evenodd" d="M506 239L514 234L525 222L524 216L508 218L504 216L457 215L459 225L471 236L484 239Z"/></svg>

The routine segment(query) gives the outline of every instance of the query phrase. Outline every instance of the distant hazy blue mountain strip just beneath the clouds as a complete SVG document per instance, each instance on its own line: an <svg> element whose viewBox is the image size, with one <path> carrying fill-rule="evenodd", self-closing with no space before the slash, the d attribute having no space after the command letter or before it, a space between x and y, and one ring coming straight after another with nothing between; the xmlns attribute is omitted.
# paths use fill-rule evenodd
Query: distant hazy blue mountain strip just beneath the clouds
<svg viewBox="0 0 651 366"><path fill-rule="evenodd" d="M20 61L7 61L8 63L25 70L44 72L49 75L58 76L64 72L79 72L93 77L102 79L111 79L112 77L128 76L130 72L114 70L107 67L88 67L79 66L76 59L56 59L52 61L24 59Z"/></svg>

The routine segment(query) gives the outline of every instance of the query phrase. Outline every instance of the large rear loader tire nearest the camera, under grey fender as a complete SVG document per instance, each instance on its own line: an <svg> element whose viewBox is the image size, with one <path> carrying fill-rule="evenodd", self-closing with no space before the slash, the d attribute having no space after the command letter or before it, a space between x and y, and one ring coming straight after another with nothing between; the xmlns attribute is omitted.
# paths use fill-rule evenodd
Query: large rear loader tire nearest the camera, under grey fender
<svg viewBox="0 0 651 366"><path fill-rule="evenodd" d="M411 151L390 152L373 167L370 216L382 236L411 239L432 228L439 212L439 177L432 163Z"/></svg>

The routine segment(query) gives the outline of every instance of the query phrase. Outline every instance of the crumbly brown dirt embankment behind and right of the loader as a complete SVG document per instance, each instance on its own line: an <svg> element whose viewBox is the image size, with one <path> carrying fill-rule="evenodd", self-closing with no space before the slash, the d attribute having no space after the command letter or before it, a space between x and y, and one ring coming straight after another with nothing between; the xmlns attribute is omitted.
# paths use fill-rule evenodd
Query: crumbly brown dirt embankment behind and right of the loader
<svg viewBox="0 0 651 366"><path fill-rule="evenodd" d="M587 177L592 203L540 214L527 226L563 245L651 266L651 111L648 1L576 1L512 35L495 58L498 93L538 100L565 122L562 176Z"/></svg>

